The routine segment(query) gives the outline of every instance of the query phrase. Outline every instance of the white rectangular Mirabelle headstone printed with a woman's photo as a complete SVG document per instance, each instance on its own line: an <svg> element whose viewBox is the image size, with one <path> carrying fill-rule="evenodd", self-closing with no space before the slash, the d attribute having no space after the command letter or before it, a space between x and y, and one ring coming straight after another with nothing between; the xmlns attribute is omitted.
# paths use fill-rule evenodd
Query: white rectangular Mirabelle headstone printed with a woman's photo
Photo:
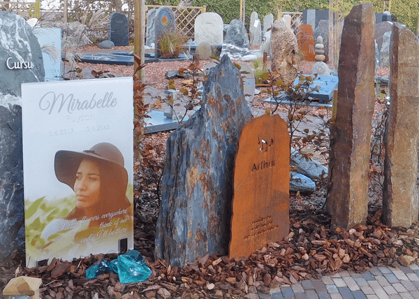
<svg viewBox="0 0 419 299"><path fill-rule="evenodd" d="M22 85L27 265L133 249L132 78Z"/></svg>

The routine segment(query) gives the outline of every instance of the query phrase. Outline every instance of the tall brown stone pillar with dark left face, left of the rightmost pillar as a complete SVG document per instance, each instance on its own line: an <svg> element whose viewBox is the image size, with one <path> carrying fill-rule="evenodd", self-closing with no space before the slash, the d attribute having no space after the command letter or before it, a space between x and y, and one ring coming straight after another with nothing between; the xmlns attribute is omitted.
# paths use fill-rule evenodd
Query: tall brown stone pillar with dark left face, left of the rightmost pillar
<svg viewBox="0 0 419 299"><path fill-rule="evenodd" d="M372 3L353 6L345 17L339 54L337 118L331 129L328 212L332 225L365 224L374 112L374 35Z"/></svg>

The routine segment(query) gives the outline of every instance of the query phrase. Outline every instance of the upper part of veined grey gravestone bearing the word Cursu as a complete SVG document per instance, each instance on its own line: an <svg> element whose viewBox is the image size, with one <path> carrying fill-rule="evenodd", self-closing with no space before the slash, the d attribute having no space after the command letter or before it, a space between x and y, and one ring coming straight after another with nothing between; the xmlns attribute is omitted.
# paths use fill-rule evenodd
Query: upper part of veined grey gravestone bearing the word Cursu
<svg viewBox="0 0 419 299"><path fill-rule="evenodd" d="M0 36L0 94L21 96L21 83L45 81L41 47L24 18L0 11Z"/></svg>

